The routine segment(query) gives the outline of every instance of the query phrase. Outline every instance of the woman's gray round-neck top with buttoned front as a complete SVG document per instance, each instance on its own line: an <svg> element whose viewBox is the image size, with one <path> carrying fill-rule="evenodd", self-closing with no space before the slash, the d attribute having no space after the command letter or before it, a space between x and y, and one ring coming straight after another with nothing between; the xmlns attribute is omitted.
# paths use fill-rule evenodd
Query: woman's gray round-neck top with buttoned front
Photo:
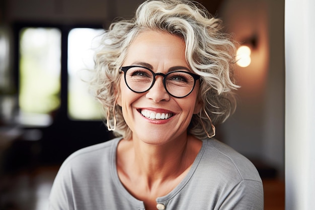
<svg viewBox="0 0 315 210"><path fill-rule="evenodd" d="M122 185L116 169L121 138L81 149L62 164L49 196L50 210L144 210ZM160 209L263 209L263 184L243 155L215 140L203 140L190 171Z"/></svg>

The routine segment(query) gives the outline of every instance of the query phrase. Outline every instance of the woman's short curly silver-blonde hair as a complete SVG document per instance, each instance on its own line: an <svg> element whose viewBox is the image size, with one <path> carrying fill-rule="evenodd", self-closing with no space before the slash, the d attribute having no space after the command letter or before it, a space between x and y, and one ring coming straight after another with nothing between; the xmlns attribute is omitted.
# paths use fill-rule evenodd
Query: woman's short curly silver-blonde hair
<svg viewBox="0 0 315 210"><path fill-rule="evenodd" d="M148 30L184 39L187 63L201 77L198 99L202 109L193 115L188 133L199 139L214 134L212 123L222 123L234 112L233 90L239 87L232 73L235 42L221 29L221 20L212 17L199 3L186 0L146 1L138 7L132 20L113 22L96 50L90 88L102 104L107 123L113 125L117 119L114 134L131 138L132 132L124 121L122 109L116 104L120 93L119 68L135 37Z"/></svg>

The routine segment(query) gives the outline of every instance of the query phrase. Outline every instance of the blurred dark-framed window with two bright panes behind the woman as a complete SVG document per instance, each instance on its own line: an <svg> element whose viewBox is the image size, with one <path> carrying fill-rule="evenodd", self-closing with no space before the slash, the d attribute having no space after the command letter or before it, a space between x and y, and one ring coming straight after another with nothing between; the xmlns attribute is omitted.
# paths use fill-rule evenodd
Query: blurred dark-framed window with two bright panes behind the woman
<svg viewBox="0 0 315 210"><path fill-rule="evenodd" d="M19 123L49 126L58 109L66 110L62 113L71 121L101 120L100 104L85 80L104 30L56 26L21 27L19 32Z"/></svg>

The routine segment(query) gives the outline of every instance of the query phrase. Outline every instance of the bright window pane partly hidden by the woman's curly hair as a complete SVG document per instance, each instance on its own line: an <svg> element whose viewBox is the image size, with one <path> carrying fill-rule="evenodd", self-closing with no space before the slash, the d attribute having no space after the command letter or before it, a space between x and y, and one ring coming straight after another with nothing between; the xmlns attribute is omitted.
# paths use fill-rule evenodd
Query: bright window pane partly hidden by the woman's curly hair
<svg viewBox="0 0 315 210"><path fill-rule="evenodd" d="M89 69L94 67L93 49L104 30L75 28L68 36L68 116L72 120L100 120L101 108L90 94Z"/></svg>

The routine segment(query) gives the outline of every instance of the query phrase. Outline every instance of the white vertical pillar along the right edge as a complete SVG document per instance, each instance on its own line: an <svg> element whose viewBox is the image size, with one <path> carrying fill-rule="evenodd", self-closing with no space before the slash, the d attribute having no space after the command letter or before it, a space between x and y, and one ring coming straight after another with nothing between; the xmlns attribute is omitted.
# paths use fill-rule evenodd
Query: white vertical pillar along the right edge
<svg viewBox="0 0 315 210"><path fill-rule="evenodd" d="M286 210L315 207L315 1L285 1Z"/></svg>

